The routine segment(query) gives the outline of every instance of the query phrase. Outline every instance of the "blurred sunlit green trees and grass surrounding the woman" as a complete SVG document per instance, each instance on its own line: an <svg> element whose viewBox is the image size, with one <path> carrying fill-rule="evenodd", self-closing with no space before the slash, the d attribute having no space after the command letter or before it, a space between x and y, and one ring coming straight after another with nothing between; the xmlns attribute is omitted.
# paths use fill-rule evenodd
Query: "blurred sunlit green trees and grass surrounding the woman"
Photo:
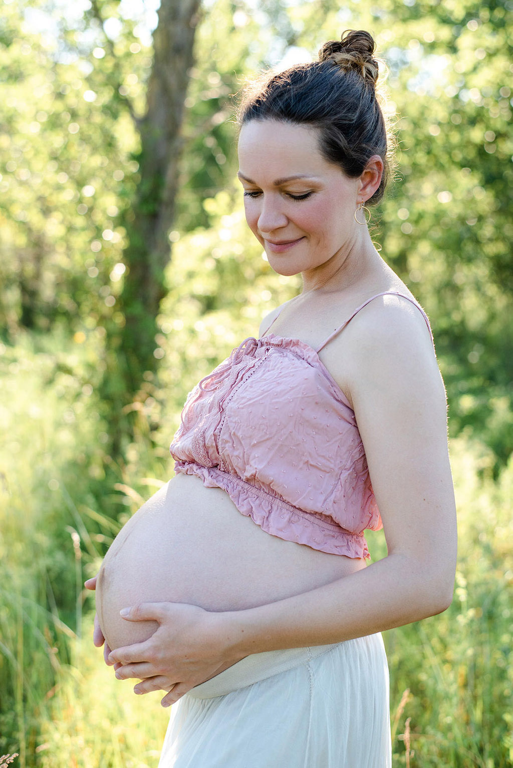
<svg viewBox="0 0 513 768"><path fill-rule="evenodd" d="M158 6L0 13L0 755L157 765L167 713L104 667L82 581L170 477L189 389L300 288L244 222L235 94L364 28L397 141L372 237L432 322L460 527L450 610L386 633L394 766L512 766L513 3L203 2L152 310L135 276L161 204L144 144ZM385 554L381 533L369 546Z"/></svg>

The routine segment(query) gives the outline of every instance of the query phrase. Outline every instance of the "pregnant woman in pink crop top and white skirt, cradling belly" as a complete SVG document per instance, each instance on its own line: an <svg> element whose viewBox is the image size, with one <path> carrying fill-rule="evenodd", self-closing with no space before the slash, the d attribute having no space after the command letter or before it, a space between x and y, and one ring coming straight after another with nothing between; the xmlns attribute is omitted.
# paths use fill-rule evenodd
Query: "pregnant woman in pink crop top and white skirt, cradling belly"
<svg viewBox="0 0 513 768"><path fill-rule="evenodd" d="M367 229L386 184L373 52L349 31L247 90L247 223L303 290L190 393L175 477L88 583L117 677L178 702L161 768L389 768L379 633L452 599L429 321Z"/></svg>

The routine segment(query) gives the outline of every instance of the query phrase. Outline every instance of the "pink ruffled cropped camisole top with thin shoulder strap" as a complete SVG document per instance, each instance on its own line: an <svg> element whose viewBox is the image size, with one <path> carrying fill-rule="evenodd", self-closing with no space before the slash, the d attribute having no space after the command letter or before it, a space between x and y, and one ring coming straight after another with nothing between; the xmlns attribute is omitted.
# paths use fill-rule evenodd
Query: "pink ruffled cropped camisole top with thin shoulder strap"
<svg viewBox="0 0 513 768"><path fill-rule="evenodd" d="M386 294L402 296L372 296L317 349L269 329L240 343L187 396L170 446L175 472L223 488L243 515L274 536L368 558L363 531L382 522L366 455L355 414L318 353ZM402 297L429 328L422 308Z"/></svg>

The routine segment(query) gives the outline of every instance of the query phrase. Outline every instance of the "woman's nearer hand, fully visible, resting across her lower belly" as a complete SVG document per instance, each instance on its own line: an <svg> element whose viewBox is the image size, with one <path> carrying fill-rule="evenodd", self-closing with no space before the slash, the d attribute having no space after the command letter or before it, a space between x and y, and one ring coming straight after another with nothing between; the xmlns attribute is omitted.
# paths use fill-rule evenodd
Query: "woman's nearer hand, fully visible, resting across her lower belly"
<svg viewBox="0 0 513 768"><path fill-rule="evenodd" d="M125 608L126 621L157 621L158 629L144 643L111 651L119 680L142 680L136 694L167 690L163 707L180 699L194 686L231 667L242 656L230 647L223 614L184 603L143 603Z"/></svg>

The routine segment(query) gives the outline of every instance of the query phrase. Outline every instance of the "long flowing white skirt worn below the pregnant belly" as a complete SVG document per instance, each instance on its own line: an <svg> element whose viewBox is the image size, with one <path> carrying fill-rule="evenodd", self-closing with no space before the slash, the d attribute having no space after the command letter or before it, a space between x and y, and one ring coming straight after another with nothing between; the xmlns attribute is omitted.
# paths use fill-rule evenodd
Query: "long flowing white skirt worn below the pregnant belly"
<svg viewBox="0 0 513 768"><path fill-rule="evenodd" d="M381 634L254 654L171 707L158 768L390 768Z"/></svg>

